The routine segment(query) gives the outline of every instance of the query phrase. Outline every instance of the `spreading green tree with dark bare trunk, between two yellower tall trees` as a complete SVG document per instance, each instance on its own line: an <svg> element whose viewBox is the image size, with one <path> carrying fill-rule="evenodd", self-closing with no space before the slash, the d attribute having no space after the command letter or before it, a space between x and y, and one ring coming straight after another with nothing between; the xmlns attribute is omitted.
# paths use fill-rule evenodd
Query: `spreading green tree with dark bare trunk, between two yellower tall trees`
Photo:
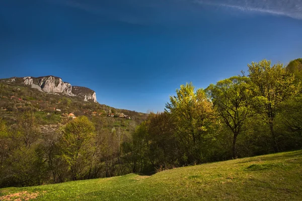
<svg viewBox="0 0 302 201"><path fill-rule="evenodd" d="M248 77L234 76L218 81L216 85L210 84L207 88L219 116L233 133L232 155L234 159L238 157L237 137L245 131L245 122L253 114L248 82Z"/></svg>

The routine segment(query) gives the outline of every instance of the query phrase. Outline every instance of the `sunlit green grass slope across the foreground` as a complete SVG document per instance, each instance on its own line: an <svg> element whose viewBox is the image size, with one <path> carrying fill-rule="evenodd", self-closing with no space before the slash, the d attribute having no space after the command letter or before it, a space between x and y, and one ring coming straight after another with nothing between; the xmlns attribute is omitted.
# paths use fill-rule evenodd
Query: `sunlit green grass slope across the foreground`
<svg viewBox="0 0 302 201"><path fill-rule="evenodd" d="M124 201L302 200L302 150L176 168L152 176L128 174L0 189L0 200L9 197Z"/></svg>

